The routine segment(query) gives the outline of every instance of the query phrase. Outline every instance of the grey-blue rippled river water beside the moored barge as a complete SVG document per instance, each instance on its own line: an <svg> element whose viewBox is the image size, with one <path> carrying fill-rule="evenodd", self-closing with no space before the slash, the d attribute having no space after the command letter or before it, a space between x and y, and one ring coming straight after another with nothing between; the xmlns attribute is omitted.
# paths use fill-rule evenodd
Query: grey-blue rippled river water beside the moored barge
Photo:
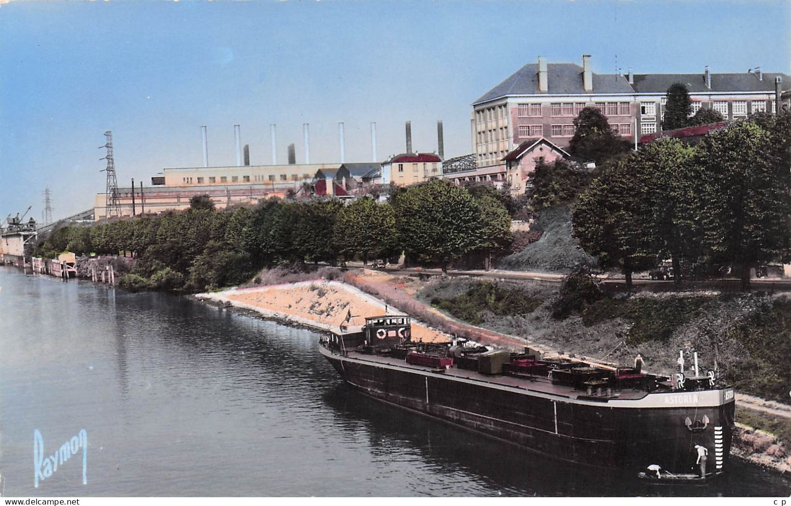
<svg viewBox="0 0 791 506"><path fill-rule="evenodd" d="M788 478L735 459L717 485L680 489L552 463L352 391L315 332L184 297L12 267L0 286L6 497L791 492ZM85 485L74 446L35 488L34 431L51 455L81 429Z"/></svg>

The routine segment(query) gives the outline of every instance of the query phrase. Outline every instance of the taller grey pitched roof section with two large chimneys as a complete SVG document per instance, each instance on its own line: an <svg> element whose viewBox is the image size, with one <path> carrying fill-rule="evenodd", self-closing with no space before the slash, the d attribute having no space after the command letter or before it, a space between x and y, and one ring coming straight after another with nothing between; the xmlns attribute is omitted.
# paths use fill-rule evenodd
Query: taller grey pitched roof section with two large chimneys
<svg viewBox="0 0 791 506"><path fill-rule="evenodd" d="M483 94L474 104L506 95L563 95L585 94L582 87L582 67L575 63L547 64L547 89L539 92L538 63L528 63L499 85ZM595 93L632 93L626 77L618 74L592 74Z"/></svg>

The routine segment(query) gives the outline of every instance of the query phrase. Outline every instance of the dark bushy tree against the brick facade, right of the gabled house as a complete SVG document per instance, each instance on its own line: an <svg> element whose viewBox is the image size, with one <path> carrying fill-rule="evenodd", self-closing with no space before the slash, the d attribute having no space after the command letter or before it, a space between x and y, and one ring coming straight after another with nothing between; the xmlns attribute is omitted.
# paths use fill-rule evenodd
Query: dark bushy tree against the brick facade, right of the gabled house
<svg viewBox="0 0 791 506"><path fill-rule="evenodd" d="M629 142L612 131L607 117L598 108L583 108L574 119L574 127L569 153L582 162L594 161L600 164L630 149Z"/></svg>

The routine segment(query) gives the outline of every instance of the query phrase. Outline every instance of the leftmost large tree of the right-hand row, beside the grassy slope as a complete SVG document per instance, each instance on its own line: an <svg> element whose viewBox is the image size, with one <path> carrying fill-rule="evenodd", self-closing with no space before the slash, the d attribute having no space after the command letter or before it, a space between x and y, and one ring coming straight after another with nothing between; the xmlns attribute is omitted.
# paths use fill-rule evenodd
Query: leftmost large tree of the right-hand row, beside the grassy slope
<svg viewBox="0 0 791 506"><path fill-rule="evenodd" d="M603 267L618 267L632 287L632 273L656 261L651 209L645 177L634 155L610 160L577 199L572 211L573 236Z"/></svg>

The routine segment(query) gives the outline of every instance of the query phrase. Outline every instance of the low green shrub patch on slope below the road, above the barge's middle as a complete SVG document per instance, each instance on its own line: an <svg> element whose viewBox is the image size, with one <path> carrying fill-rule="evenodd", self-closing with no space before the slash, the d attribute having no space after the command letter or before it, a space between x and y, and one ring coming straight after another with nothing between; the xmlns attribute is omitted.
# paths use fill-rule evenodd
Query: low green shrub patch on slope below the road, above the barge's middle
<svg viewBox="0 0 791 506"><path fill-rule="evenodd" d="M492 312L498 316L527 315L535 311L541 303L539 299L525 296L520 289L490 282L476 283L467 293L450 299L431 300L433 307L473 325L483 323L484 312Z"/></svg>

